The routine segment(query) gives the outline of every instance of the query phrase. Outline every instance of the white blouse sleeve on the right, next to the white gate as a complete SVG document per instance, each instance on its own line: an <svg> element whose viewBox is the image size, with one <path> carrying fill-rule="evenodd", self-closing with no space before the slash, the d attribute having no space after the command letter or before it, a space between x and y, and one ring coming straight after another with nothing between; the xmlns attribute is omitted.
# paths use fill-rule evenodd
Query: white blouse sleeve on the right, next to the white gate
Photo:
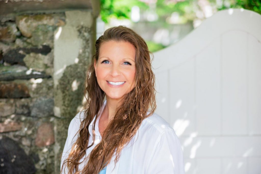
<svg viewBox="0 0 261 174"><path fill-rule="evenodd" d="M182 148L174 130L159 136L149 160L148 174L185 173Z"/></svg>

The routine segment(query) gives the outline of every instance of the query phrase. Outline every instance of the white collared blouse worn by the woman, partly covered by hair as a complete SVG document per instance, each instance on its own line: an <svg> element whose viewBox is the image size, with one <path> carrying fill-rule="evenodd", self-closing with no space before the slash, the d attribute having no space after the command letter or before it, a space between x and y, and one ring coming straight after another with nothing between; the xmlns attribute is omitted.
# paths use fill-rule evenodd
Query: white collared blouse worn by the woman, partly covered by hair
<svg viewBox="0 0 261 174"><path fill-rule="evenodd" d="M106 100L104 101L101 110L104 109L105 105ZM84 112L79 112L70 122L68 136L62 153L61 167L63 161L68 157L68 154L71 151L72 144L77 139L78 134L76 136L74 135L80 128L80 118L83 120ZM87 156L102 138L98 127L99 118L100 115L95 124L95 141L93 146L86 150ZM88 145L91 145L92 143L92 125L94 119L95 117L89 125L89 133L91 136ZM84 159L85 157L80 161L83 161ZM116 165L114 165L114 159L115 156L112 157L110 163L106 166L106 174L185 173L180 141L169 123L156 113L153 113L142 121L137 133L122 149L121 156ZM81 163L79 165L79 170L83 169L86 163L86 160ZM68 173L67 168L65 169L65 173Z"/></svg>

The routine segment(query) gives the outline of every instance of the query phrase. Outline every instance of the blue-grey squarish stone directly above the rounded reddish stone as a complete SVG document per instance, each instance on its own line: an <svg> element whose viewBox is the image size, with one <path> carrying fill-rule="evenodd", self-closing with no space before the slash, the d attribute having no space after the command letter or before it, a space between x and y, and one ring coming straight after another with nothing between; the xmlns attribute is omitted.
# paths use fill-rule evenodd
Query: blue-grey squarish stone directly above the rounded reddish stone
<svg viewBox="0 0 261 174"><path fill-rule="evenodd" d="M31 106L32 117L48 117L54 115L54 99L41 97Z"/></svg>

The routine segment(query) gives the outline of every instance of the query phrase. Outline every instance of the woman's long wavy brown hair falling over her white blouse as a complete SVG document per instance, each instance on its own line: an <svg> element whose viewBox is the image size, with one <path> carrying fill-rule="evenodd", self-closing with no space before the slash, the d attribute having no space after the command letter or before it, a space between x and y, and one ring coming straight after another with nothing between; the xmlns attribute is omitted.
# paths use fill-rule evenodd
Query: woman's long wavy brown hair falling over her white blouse
<svg viewBox="0 0 261 174"><path fill-rule="evenodd" d="M88 160L87 164L79 171L78 166L80 159L86 155L86 149L91 147L95 140L93 126L93 140L92 144L88 146L90 137L88 127L93 118L100 114L98 112L103 105L105 97L105 93L99 87L96 79L94 59L96 59L96 61L98 60L100 46L111 40L126 41L135 47L135 87L121 100L121 105L117 107L114 119L109 122L103 132L101 142L92 150L86 159ZM114 160L116 164L120 158L122 148L131 141L143 119L152 115L156 109L155 75L151 67L151 52L148 50L144 39L132 29L118 26L107 29L104 34L97 39L95 47L96 53L93 56L92 64L86 74L84 94L85 96L87 95L87 98L83 107L84 119L80 124L78 138L72 145L72 150L62 165L62 170L64 165L66 165L68 173L70 174L98 174L109 164L113 155L116 157ZM97 117L93 125L95 125L96 119Z"/></svg>

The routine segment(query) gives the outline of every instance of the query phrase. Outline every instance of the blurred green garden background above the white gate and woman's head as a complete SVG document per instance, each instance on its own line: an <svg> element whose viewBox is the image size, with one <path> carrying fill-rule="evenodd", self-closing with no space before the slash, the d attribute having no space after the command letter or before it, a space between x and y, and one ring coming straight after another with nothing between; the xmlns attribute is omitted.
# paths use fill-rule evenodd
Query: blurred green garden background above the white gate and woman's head
<svg viewBox="0 0 261 174"><path fill-rule="evenodd" d="M261 14L260 0L101 0L105 29L126 25L137 31L150 51L185 37L219 10L242 8Z"/></svg>

